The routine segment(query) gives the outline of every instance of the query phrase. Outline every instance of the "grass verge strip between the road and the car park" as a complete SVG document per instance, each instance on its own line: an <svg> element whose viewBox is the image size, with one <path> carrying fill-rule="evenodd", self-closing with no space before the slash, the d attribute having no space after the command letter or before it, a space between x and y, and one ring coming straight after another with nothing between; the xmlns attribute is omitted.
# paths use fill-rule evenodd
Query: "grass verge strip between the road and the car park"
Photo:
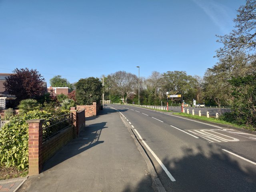
<svg viewBox="0 0 256 192"><path fill-rule="evenodd" d="M213 122L213 123L218 123L218 124L222 124L222 125L227 125L227 126L232 126L232 127L236 127L236 128L240 128L240 129L246 129L246 130L250 130L250 131L256 131L255 128L252 127L246 127L246 126L242 126L242 125L238 125L238 124L234 124L234 123L230 123L230 122L226 122L224 120L218 120L216 118L207 118L205 116L196 116L196 115L192 115L192 114L187 114L187 113L173 113L174 115L179 115L179 116L184 116L184 117L188 117L188 118L192 118L192 119L197 119L197 120L203 120L203 121L207 121L207 122Z"/></svg>

